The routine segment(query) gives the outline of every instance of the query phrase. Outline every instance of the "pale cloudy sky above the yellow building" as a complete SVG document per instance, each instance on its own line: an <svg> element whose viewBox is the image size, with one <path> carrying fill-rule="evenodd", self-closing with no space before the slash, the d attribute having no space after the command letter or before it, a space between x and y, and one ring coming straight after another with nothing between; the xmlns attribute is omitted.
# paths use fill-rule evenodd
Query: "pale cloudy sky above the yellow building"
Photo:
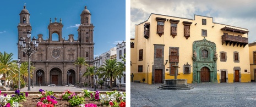
<svg viewBox="0 0 256 107"><path fill-rule="evenodd" d="M227 5L228 4L228 5ZM194 19L194 14L213 17L214 22L246 28L249 42L256 40L256 1L130 1L130 34L135 35L135 25L148 20L151 13Z"/></svg>

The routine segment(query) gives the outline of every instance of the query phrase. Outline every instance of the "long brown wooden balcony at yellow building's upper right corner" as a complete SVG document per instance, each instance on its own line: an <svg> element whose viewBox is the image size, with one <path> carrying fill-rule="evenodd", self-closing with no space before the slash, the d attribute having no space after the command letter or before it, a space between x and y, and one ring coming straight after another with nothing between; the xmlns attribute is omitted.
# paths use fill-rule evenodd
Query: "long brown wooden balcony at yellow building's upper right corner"
<svg viewBox="0 0 256 107"><path fill-rule="evenodd" d="M248 38L241 37L241 36L222 35L221 40L222 40L222 45L226 43L226 46L228 43L230 43L230 46L233 43L233 47L235 46L238 47L239 45L240 47L242 46L245 47L248 44Z"/></svg>

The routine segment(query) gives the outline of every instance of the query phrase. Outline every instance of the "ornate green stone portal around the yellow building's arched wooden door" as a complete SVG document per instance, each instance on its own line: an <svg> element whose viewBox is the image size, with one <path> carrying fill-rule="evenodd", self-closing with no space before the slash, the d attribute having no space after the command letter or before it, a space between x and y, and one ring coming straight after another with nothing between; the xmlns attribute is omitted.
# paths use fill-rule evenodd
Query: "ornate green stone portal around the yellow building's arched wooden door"
<svg viewBox="0 0 256 107"><path fill-rule="evenodd" d="M192 83L217 82L216 44L205 38L193 42L193 81Z"/></svg>

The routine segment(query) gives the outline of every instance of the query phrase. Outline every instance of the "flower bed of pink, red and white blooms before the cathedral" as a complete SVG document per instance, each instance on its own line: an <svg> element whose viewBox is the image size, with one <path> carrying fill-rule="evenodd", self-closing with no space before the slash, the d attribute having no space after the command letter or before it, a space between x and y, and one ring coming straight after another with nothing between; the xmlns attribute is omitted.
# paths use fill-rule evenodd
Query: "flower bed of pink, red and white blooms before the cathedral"
<svg viewBox="0 0 256 107"><path fill-rule="evenodd" d="M125 106L124 92L109 92L100 94L99 91L91 92L83 90L75 94L67 89L62 94L54 94L51 91L40 89L40 95L29 95L26 102L20 102L24 106Z"/></svg>

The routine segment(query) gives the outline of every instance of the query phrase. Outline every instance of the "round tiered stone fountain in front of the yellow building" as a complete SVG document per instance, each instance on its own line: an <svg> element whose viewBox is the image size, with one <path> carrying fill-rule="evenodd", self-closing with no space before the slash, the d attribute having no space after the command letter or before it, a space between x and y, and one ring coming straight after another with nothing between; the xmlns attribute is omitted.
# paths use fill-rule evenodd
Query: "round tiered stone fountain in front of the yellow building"
<svg viewBox="0 0 256 107"><path fill-rule="evenodd" d="M172 65L175 68L175 79L168 79L168 80L164 80L163 85L161 85L158 89L162 89L162 90L189 90L189 89L193 89L194 87L189 86L187 84L187 79L177 79L177 67L179 67L179 65L177 65L175 63L175 65Z"/></svg>

